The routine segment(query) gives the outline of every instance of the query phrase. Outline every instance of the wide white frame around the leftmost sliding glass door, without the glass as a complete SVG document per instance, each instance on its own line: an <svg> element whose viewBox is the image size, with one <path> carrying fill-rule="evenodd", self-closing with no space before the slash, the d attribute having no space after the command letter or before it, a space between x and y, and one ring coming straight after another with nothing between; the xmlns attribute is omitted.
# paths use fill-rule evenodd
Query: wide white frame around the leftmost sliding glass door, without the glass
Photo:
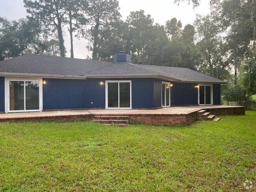
<svg viewBox="0 0 256 192"><path fill-rule="evenodd" d="M36 110L16 110L16 111L10 111L10 100L9 100L9 92L10 92L10 81L39 81L39 109ZM5 112L6 113L19 113L19 112L36 112L36 111L42 111L43 110L43 79L42 78L16 78L16 77L5 77L4 78L4 94L5 94ZM25 84L24 84L25 86ZM26 106L26 91L24 89L24 105ZM25 107L24 106L24 107Z"/></svg>

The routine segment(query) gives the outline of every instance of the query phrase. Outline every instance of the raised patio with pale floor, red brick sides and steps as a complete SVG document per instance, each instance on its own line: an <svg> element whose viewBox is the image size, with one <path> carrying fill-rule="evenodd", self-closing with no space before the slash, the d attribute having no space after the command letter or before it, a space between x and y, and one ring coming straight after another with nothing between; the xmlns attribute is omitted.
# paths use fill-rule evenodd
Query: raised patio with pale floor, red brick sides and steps
<svg viewBox="0 0 256 192"><path fill-rule="evenodd" d="M203 111L207 113L200 113ZM213 120L215 115L243 115L245 107L208 105L167 107L156 110L113 109L113 110L74 110L49 111L33 113L0 114L0 122L72 122L94 120L104 124L126 125L128 123L145 123L155 125L189 125L196 120ZM214 118L213 118L214 117Z"/></svg>

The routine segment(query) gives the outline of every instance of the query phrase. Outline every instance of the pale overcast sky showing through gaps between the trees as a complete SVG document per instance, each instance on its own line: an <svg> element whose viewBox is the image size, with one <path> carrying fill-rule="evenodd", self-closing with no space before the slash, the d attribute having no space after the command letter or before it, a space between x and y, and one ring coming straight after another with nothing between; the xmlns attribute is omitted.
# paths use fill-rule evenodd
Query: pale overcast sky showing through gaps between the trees
<svg viewBox="0 0 256 192"><path fill-rule="evenodd" d="M24 8L23 0L0 0L0 16L6 17L9 20L26 17L26 9ZM176 17L181 20L183 26L186 24L193 24L196 14L206 15L210 13L210 0L203 0L199 7L193 9L192 5L187 2L182 2L178 6L173 3L173 0L119 0L120 13L122 19L126 17L131 11L143 9L145 14L151 15L156 23L164 25L167 20ZM66 30L65 47L67 49L67 57L70 56L70 38ZM83 39L74 39L74 57L84 59L87 57L86 41ZM91 56L91 55L89 55Z"/></svg>

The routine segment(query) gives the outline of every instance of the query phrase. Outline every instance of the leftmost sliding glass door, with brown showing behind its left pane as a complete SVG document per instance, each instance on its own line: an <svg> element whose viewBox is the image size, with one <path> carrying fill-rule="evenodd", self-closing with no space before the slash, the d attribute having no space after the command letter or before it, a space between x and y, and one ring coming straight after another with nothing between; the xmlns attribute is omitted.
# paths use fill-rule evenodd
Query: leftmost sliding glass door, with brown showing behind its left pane
<svg viewBox="0 0 256 192"><path fill-rule="evenodd" d="M40 80L8 80L8 112L40 111Z"/></svg>

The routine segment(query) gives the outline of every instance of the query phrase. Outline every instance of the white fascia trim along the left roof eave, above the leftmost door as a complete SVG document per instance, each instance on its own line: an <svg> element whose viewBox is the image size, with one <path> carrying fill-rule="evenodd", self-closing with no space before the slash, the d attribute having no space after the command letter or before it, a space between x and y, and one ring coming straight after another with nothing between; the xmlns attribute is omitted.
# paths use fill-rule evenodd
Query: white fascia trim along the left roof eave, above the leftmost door
<svg viewBox="0 0 256 192"><path fill-rule="evenodd" d="M4 77L20 78L56 78L56 79L86 79L86 76L68 76L68 75L45 75L45 74L20 74L20 73L0 73Z"/></svg>

